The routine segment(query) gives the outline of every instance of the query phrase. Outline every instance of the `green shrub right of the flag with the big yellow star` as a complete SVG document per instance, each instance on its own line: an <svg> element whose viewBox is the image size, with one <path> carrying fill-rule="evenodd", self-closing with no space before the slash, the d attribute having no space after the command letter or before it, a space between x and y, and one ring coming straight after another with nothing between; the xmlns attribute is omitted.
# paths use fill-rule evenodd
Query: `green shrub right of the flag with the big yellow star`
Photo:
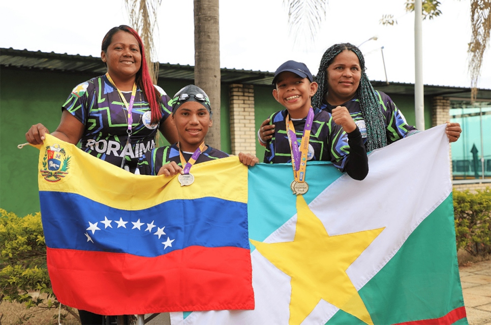
<svg viewBox="0 0 491 325"><path fill-rule="evenodd" d="M457 249L473 256L491 253L491 189L453 192Z"/></svg>

